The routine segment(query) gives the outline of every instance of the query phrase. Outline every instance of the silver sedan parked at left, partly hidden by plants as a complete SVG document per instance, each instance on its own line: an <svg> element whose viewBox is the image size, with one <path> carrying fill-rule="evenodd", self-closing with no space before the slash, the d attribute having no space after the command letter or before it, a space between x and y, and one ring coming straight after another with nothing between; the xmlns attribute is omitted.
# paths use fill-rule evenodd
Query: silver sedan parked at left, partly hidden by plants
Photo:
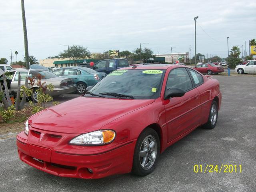
<svg viewBox="0 0 256 192"><path fill-rule="evenodd" d="M46 71L43 69L13 69L10 70L10 75L7 76L8 84L10 87L8 87L11 91L17 92L18 89L18 72L20 72L20 85L25 85L25 80L28 77L37 77L39 74L43 76L41 82L46 82L47 84L53 84L54 89L53 91L46 90L46 94L50 94L51 96L58 96L61 94L68 94L76 91L76 84L74 84L74 79L72 78L63 78L58 77L56 74ZM28 86L30 88L31 85L28 82ZM34 101L37 101L37 92L38 86L36 83L33 86L33 96L32 99Z"/></svg>

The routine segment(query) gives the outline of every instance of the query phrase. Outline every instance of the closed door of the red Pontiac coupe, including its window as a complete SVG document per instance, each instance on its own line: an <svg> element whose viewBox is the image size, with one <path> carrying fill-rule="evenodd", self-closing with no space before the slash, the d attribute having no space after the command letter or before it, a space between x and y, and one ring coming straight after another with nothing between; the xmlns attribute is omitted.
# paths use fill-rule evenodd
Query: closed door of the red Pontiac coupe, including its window
<svg viewBox="0 0 256 192"><path fill-rule="evenodd" d="M185 91L184 96L170 98L170 102L164 105L170 142L199 126L201 107L199 91L194 88L186 68L175 68L170 71L165 90L168 88L181 88Z"/></svg>

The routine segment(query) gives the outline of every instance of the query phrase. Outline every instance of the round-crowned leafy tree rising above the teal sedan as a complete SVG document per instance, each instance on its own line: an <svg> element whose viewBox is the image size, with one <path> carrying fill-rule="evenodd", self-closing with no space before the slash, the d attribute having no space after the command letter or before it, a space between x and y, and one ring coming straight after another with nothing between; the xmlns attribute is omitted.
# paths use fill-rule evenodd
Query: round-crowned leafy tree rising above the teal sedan
<svg viewBox="0 0 256 192"><path fill-rule="evenodd" d="M80 45L72 45L69 50L64 50L59 54L60 58L72 58L72 60L74 60L74 63L82 58L91 58L90 55L91 53L88 48L84 48Z"/></svg>

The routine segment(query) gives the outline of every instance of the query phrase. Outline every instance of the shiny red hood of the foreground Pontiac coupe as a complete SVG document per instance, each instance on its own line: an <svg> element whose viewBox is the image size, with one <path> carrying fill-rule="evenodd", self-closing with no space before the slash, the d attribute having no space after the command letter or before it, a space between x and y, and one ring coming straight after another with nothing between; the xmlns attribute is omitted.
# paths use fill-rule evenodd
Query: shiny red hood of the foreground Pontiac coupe
<svg viewBox="0 0 256 192"><path fill-rule="evenodd" d="M29 119L32 127L61 133L86 133L99 130L109 122L154 100L128 100L78 97L53 106Z"/></svg>

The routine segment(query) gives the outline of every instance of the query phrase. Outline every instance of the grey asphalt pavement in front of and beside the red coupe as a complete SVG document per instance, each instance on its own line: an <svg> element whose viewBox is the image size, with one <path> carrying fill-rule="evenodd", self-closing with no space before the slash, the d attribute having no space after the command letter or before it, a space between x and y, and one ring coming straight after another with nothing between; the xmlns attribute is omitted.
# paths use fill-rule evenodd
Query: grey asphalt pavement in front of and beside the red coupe
<svg viewBox="0 0 256 192"><path fill-rule="evenodd" d="M100 180L61 178L36 170L18 159L16 139L0 140L0 191L30 192L255 192L256 77L218 76L222 107L213 130L197 128L165 150L156 170ZM203 173L194 165L202 164ZM242 165L242 173L204 173L207 164ZM220 167L219 167L220 168Z"/></svg>

